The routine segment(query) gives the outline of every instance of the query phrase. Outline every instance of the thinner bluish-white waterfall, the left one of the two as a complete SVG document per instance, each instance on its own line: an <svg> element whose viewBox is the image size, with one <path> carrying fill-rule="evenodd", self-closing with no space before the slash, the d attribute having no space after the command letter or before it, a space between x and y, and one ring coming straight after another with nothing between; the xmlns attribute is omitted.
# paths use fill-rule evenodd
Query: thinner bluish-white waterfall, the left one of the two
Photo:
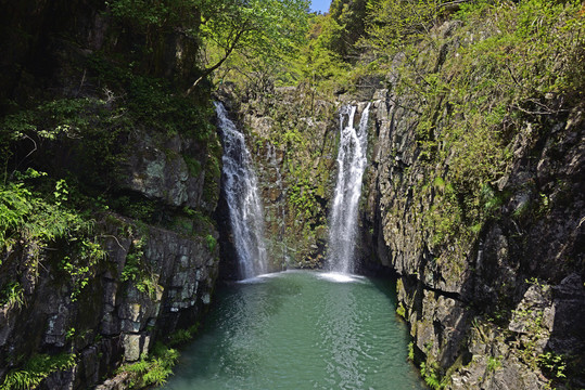
<svg viewBox="0 0 585 390"><path fill-rule="evenodd" d="M224 145L224 191L229 207L233 244L240 276L250 278L267 272L264 244L264 212L252 157L244 134L228 118L226 108L215 102Z"/></svg>

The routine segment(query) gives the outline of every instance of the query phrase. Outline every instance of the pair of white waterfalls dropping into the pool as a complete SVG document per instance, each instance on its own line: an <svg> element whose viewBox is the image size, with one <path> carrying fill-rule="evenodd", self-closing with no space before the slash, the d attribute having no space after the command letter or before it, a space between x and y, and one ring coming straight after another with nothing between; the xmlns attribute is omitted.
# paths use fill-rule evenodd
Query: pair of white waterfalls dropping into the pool
<svg viewBox="0 0 585 390"><path fill-rule="evenodd" d="M227 117L224 105L215 103L215 106L224 143L224 190L240 276L250 278L268 270L257 179L244 135ZM368 103L357 129L354 128L357 107L344 106L340 112L339 173L329 221L328 262L331 271L345 274L355 271L353 260L361 179L367 166L369 108Z"/></svg>

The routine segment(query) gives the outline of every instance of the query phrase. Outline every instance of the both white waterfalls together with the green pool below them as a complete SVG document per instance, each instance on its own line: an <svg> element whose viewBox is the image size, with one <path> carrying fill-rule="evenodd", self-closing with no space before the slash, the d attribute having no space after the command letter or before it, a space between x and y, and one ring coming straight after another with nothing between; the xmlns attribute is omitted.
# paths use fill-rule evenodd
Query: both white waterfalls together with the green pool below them
<svg viewBox="0 0 585 390"><path fill-rule="evenodd" d="M329 243L340 250L328 256L329 268L336 273L264 274L265 269L252 261L263 258L250 256L247 243L242 244L240 237L241 229L249 227L257 233L256 242L264 239L254 222L241 226L245 216L262 217L259 205L254 205L257 212L251 212L250 204L242 202L258 199L256 180L250 180L249 152L224 106L216 103L224 134L224 185L243 281L220 287L206 329L186 351L165 389L376 389L389 384L400 389L423 388L406 360L407 334L394 314L396 296L387 282L349 273L369 106L357 129L357 107L344 106L340 112L340 169ZM242 178L247 180L236 193L234 180ZM263 244L255 247L264 249Z"/></svg>

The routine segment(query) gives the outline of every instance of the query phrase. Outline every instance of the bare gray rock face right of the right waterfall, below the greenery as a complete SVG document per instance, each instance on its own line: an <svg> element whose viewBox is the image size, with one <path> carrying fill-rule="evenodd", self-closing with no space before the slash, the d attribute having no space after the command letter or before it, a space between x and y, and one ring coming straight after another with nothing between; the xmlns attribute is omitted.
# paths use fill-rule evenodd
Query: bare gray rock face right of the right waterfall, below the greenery
<svg viewBox="0 0 585 390"><path fill-rule="evenodd" d="M509 174L497 183L510 194L501 213L475 239L457 243L457 251L456 243L433 246L424 224L436 194L416 196L419 183L441 177L448 161L421 161L418 114L408 96L387 90L373 96L363 224L373 225L368 239L380 262L400 275L398 300L420 360L437 364L447 388L545 388L557 379L546 359L585 352L582 112L554 125L536 150L518 140ZM522 217L545 196L543 217ZM437 261L449 251L449 262ZM576 370L565 374L572 386L583 386Z"/></svg>

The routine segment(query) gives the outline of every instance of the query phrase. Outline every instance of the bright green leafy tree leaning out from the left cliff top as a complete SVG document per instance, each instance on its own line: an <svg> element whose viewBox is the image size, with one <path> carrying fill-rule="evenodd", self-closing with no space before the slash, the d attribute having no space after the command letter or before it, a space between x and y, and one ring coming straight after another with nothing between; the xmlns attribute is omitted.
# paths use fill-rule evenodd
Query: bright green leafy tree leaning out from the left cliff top
<svg viewBox="0 0 585 390"><path fill-rule="evenodd" d="M147 32L178 30L203 43L207 67L186 95L236 52L280 56L294 51L308 18L308 0L111 0L109 5Z"/></svg>

